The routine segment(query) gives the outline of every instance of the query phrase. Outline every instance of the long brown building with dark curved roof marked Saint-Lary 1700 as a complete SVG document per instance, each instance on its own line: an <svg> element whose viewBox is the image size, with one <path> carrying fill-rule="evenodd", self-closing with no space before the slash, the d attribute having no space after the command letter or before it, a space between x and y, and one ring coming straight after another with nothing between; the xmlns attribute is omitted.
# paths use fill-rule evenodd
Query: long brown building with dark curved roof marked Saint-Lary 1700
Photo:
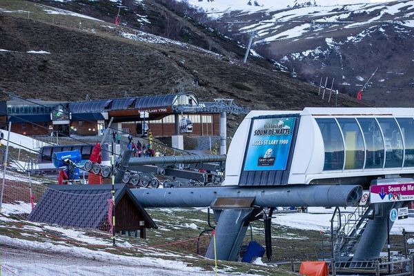
<svg viewBox="0 0 414 276"><path fill-rule="evenodd" d="M78 102L12 99L0 102L0 128L11 121L12 131L23 135L92 136L101 135L113 117L112 128L132 135L141 135L144 121L155 137L179 135L186 132L182 120L193 124L186 135L218 136L221 112L245 110L234 103L201 103L193 92Z"/></svg>

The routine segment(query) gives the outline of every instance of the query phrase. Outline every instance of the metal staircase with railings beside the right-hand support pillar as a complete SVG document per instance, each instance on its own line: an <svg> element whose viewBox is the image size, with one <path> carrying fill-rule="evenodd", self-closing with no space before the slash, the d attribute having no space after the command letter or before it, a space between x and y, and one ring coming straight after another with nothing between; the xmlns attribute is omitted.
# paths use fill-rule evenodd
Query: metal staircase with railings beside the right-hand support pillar
<svg viewBox="0 0 414 276"><path fill-rule="evenodd" d="M373 219L372 206L359 206L353 213L343 214L335 208L331 219L331 257L337 262L351 260L364 233L366 222Z"/></svg>

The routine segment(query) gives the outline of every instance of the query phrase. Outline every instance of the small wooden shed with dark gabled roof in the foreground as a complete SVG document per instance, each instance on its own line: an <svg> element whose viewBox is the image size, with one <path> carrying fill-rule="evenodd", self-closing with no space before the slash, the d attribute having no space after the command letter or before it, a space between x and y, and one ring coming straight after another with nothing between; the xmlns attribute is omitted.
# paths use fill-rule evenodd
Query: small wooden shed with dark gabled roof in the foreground
<svg viewBox="0 0 414 276"><path fill-rule="evenodd" d="M31 221L76 228L110 229L112 185L49 185L30 213ZM115 231L157 228L126 184L115 185Z"/></svg>

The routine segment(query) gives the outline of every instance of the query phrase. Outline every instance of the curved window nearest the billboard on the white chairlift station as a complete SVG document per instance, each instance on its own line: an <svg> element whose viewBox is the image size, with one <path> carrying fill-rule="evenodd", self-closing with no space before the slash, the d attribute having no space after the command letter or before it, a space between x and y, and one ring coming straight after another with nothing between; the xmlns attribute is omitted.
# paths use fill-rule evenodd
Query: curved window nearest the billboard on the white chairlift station
<svg viewBox="0 0 414 276"><path fill-rule="evenodd" d="M344 142L335 119L316 119L324 139L324 170L342 170L344 166Z"/></svg>

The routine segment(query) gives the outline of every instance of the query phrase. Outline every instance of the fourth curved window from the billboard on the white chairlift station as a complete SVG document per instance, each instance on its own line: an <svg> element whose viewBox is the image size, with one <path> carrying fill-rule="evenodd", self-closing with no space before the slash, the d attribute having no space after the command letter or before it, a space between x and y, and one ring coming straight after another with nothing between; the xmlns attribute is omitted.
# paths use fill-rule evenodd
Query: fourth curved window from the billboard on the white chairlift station
<svg viewBox="0 0 414 276"><path fill-rule="evenodd" d="M385 168L402 166L402 137L400 129L393 118L379 118L378 123L384 134Z"/></svg>

